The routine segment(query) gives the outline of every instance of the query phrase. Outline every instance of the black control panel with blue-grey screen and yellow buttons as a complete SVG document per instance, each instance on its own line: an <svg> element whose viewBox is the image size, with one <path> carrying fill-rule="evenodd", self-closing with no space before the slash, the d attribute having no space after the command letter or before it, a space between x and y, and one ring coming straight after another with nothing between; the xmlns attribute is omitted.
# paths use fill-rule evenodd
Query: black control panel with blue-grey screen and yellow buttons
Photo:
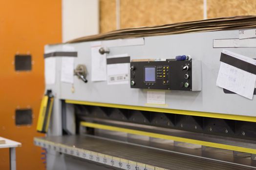
<svg viewBox="0 0 256 170"><path fill-rule="evenodd" d="M185 66L189 69L183 70ZM130 67L131 88L192 90L192 60L131 62ZM149 77L146 69L151 71ZM189 75L188 79L185 74ZM189 86L185 87L185 83Z"/></svg>

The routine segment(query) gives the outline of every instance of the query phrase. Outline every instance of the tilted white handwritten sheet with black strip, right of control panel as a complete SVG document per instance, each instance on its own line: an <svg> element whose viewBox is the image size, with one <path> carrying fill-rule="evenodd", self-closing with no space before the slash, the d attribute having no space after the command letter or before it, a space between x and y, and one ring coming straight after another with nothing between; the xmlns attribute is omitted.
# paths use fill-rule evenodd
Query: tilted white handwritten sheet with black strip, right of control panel
<svg viewBox="0 0 256 170"><path fill-rule="evenodd" d="M223 50L216 85L253 99L256 86L256 60Z"/></svg>

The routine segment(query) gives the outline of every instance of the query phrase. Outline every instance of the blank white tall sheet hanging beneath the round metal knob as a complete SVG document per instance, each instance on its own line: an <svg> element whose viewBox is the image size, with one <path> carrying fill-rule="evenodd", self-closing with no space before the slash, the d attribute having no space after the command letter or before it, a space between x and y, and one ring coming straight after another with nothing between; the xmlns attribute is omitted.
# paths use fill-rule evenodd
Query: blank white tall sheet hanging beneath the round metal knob
<svg viewBox="0 0 256 170"><path fill-rule="evenodd" d="M106 54L100 54L100 48L91 48L91 80L93 82L107 80Z"/></svg>

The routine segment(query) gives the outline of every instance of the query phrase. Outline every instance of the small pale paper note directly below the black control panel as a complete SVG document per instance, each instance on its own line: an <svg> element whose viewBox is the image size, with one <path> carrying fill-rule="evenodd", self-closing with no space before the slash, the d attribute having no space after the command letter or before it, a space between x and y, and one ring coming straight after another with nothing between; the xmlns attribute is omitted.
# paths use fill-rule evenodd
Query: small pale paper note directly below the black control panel
<svg viewBox="0 0 256 170"><path fill-rule="evenodd" d="M165 91L147 91L148 104L165 104Z"/></svg>

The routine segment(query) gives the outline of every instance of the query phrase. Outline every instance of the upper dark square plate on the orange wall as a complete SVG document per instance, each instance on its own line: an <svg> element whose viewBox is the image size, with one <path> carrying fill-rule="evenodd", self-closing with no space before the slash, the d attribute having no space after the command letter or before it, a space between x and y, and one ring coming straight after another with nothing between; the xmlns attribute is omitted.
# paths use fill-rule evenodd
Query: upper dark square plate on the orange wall
<svg viewBox="0 0 256 170"><path fill-rule="evenodd" d="M26 55L26 54L15 55L15 70L16 71L32 70L31 60L32 60L31 55Z"/></svg>

